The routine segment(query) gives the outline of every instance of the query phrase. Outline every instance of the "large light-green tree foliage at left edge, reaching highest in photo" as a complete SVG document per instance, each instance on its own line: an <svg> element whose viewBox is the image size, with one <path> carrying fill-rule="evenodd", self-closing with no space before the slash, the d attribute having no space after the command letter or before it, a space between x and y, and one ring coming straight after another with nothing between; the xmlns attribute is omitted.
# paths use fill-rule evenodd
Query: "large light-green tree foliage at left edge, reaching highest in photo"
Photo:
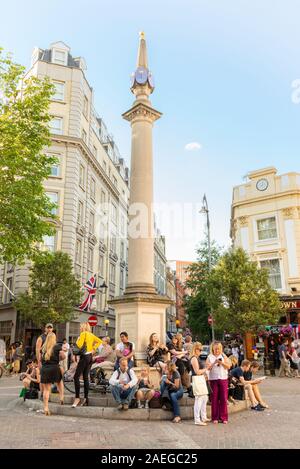
<svg viewBox="0 0 300 469"><path fill-rule="evenodd" d="M0 49L0 263L31 258L54 232L55 205L43 188L56 161L43 153L52 90Z"/></svg>

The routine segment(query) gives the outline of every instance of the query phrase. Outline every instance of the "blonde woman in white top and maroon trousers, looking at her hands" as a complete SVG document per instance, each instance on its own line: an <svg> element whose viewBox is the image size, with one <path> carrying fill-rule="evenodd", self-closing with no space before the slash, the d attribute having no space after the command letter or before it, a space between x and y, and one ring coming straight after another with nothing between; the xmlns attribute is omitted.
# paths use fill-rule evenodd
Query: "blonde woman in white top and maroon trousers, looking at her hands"
<svg viewBox="0 0 300 469"><path fill-rule="evenodd" d="M213 423L228 423L228 370L231 362L223 353L221 342L213 342L206 365L211 387L211 414Z"/></svg>

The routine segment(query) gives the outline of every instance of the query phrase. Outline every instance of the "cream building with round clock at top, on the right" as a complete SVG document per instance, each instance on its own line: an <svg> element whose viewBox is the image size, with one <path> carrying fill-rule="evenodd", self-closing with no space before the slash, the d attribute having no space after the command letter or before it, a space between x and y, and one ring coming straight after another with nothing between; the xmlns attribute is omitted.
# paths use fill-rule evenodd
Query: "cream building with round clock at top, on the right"
<svg viewBox="0 0 300 469"><path fill-rule="evenodd" d="M268 269L282 301L281 322L300 323L300 173L264 168L234 187L231 239Z"/></svg>

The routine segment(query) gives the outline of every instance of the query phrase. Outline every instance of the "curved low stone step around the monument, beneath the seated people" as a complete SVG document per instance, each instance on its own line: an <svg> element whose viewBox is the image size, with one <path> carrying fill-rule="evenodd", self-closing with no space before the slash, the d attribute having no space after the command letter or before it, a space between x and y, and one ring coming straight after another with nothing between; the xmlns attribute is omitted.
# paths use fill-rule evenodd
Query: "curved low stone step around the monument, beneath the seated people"
<svg viewBox="0 0 300 469"><path fill-rule="evenodd" d="M193 399L191 399L193 402ZM43 403L38 399L26 400L24 406L32 411L42 410ZM229 415L236 412L247 410L249 407L248 401L238 401L235 405L228 406ZM115 407L76 407L75 409L69 405L58 405L54 403L49 404L50 412L53 415L63 415L67 417L82 417L82 418L98 418L108 420L139 420L139 421L152 421L152 420L172 420L173 414L171 411L163 409L129 409L127 411L120 411ZM194 418L192 406L180 406L181 418L183 420L191 420ZM207 407L207 416L211 415L210 406Z"/></svg>

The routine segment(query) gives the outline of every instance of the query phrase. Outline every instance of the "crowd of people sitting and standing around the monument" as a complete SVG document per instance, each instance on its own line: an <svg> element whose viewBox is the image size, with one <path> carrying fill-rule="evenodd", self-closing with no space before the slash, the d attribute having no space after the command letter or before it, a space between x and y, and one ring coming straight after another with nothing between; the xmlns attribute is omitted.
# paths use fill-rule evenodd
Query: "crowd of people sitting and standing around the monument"
<svg viewBox="0 0 300 469"><path fill-rule="evenodd" d="M126 331L121 332L120 342L112 346L109 337L98 338L88 323L82 323L76 343L70 345L66 339L57 342L53 325L49 323L38 337L34 354L27 358L25 371L20 375L24 386L21 395L30 398L30 393L36 396L39 391L44 402L44 414L50 415L49 397L53 385L60 404L64 404L63 375L66 373L69 379L74 380L72 407L87 406L91 371L106 367L112 371L109 385L120 411L128 410L133 403L138 409L149 409L156 400L163 408L172 410L173 422L178 423L181 421L180 399L184 392L194 398L194 422L201 426L206 426L209 421L206 414L208 403L214 424L227 424L228 404L245 399L246 395L252 410L261 412L268 408L259 388L265 377L255 377L260 365L255 360L244 359L242 345L225 344L223 348L221 342L213 342L206 359L203 359L202 350L202 344L193 342L191 336L183 339L182 334L177 333L164 344L153 332L145 350L147 365L142 367L138 377L134 371L135 344ZM274 367L275 360L279 360L279 376L299 376L299 351L299 345L296 342L290 344L288 339L283 340L277 349L270 342L269 356L274 358ZM4 361L4 355L0 347L0 362ZM13 374L19 373L24 356L23 344L13 344ZM296 366L292 367L291 362ZM155 388L151 382L151 368L159 373L159 387ZM84 383L83 398L80 396L80 380Z"/></svg>

